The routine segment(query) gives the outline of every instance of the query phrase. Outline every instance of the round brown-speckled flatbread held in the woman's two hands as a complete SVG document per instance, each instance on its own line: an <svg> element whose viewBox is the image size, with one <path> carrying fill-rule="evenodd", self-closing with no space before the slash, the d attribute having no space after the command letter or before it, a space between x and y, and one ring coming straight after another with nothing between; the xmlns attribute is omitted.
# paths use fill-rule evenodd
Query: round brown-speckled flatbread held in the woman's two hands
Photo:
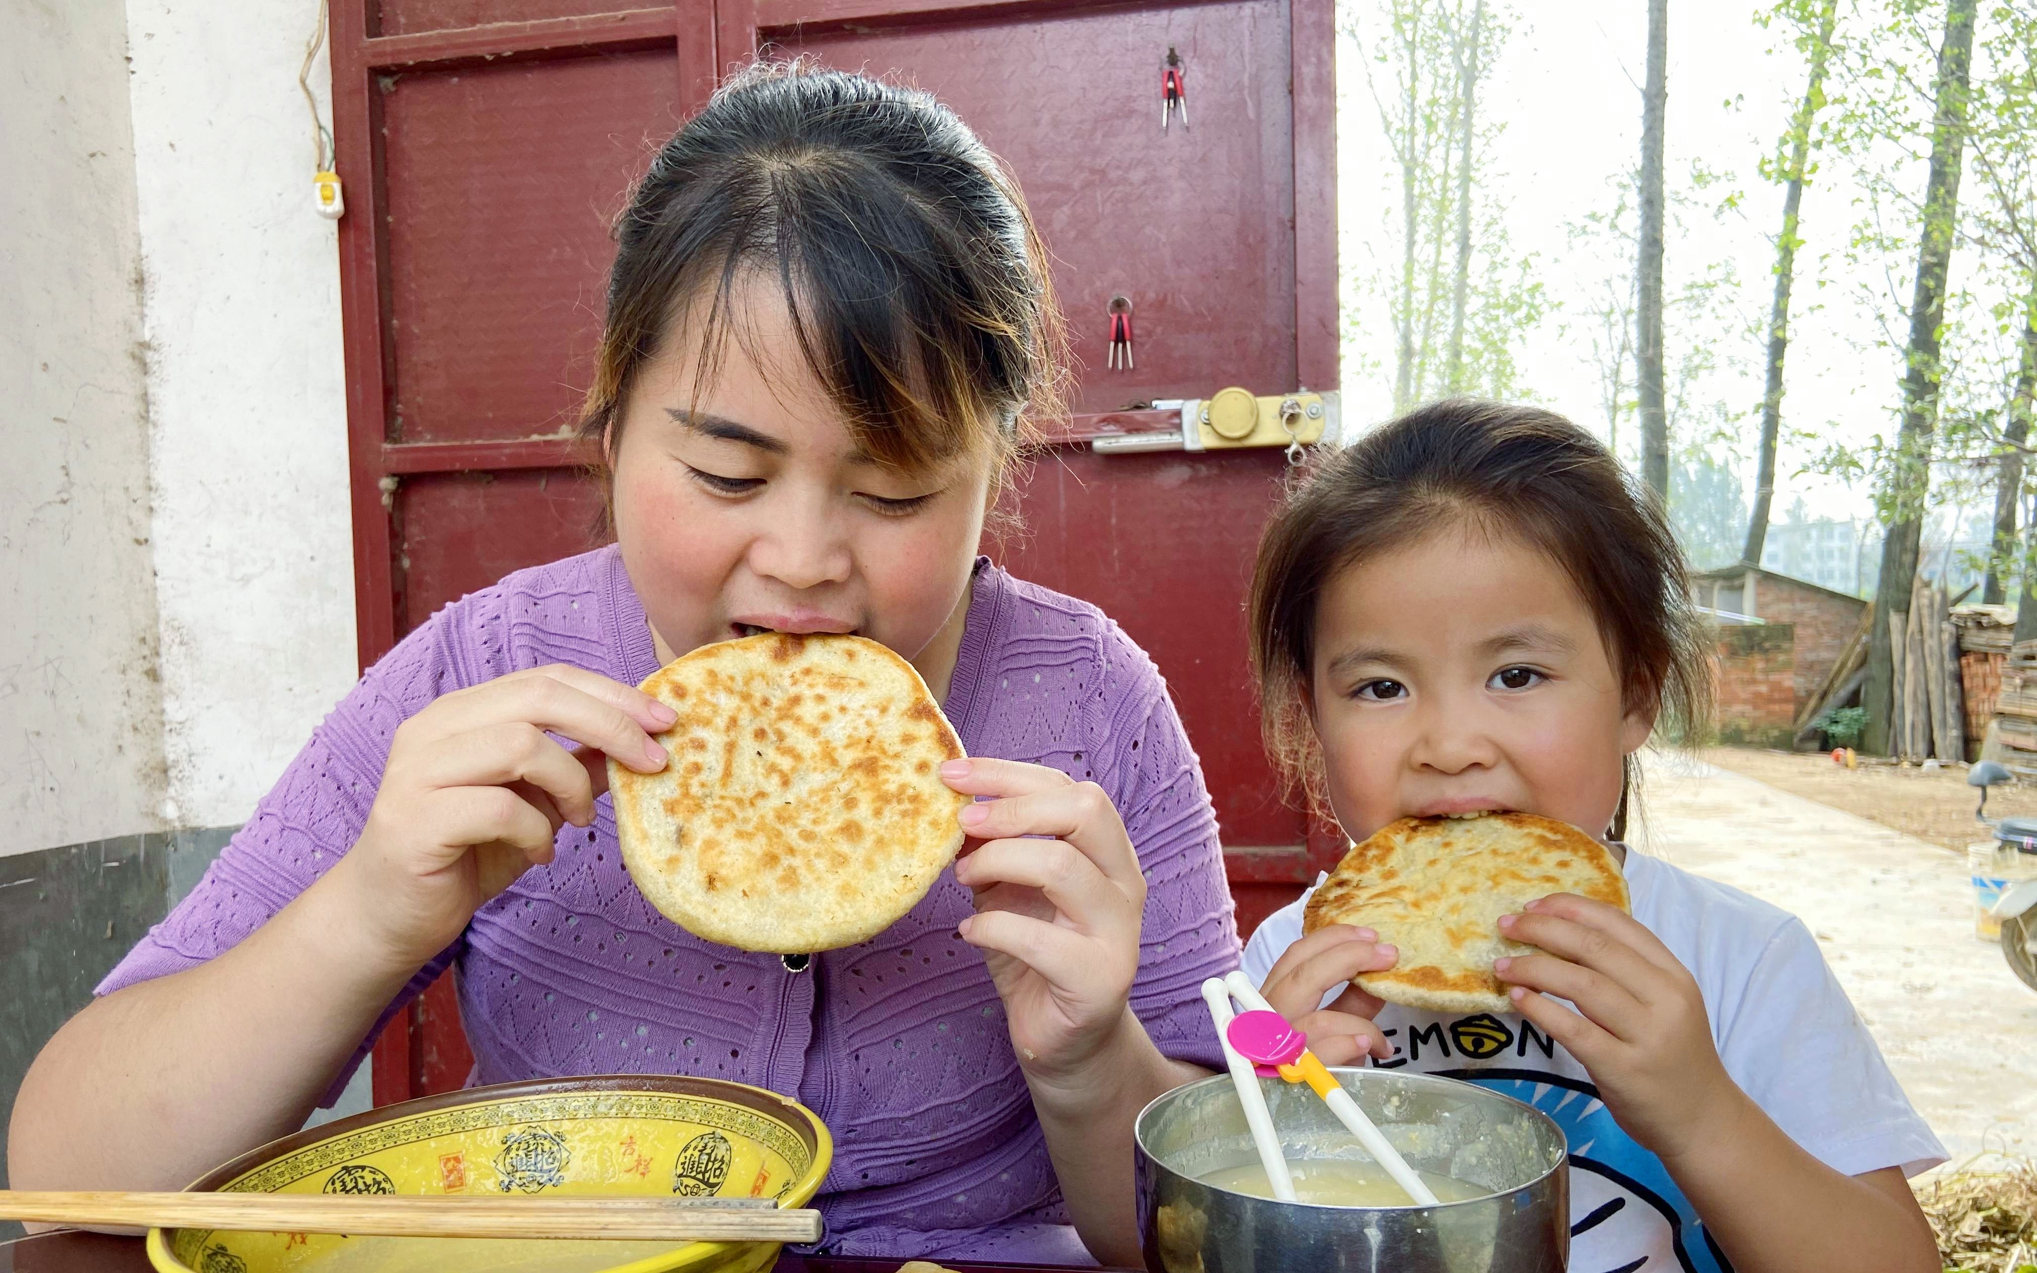
<svg viewBox="0 0 2037 1273"><path fill-rule="evenodd" d="M939 703L884 646L770 631L703 646L640 686L678 713L670 764L609 762L623 864L697 937L796 955L911 910L961 849L964 756Z"/></svg>

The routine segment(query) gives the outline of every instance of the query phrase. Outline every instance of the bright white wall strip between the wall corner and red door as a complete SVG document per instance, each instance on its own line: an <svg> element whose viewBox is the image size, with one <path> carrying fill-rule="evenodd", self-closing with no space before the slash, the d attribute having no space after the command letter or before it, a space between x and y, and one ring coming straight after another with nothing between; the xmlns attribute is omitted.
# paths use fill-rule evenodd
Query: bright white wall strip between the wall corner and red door
<svg viewBox="0 0 2037 1273"><path fill-rule="evenodd" d="M297 88L316 14L126 4L165 815L183 827L244 821L354 680L336 230L312 212ZM312 86L324 110L324 55Z"/></svg>

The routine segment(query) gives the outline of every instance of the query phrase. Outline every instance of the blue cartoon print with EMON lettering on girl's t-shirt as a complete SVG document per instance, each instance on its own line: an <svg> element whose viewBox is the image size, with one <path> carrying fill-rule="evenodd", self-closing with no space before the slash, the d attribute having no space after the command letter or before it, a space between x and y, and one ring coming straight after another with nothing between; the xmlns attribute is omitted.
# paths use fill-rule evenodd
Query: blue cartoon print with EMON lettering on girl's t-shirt
<svg viewBox="0 0 2037 1273"><path fill-rule="evenodd" d="M1595 1086L1546 1069L1505 1067L1507 1059L1528 1063L1536 1057L1556 1059L1556 1041L1534 1025L1479 1012L1456 1020L1432 1016L1426 1022L1408 1022L1406 1043L1397 1041L1401 1035L1397 1027L1381 1033L1393 1043L1393 1057L1375 1061L1379 1069L1399 1069L1410 1061L1422 1061L1424 1055L1430 1065L1438 1057L1501 1061L1493 1067L1426 1069L1426 1073L1511 1096L1548 1114L1562 1128L1571 1147L1571 1214L1579 1216L1571 1224L1573 1244L1579 1234L1591 1232L1593 1251L1642 1253L1636 1259L1615 1257L1605 1269L1579 1265L1577 1273L1670 1273L1650 1267L1646 1255L1664 1247L1676 1253L1676 1267L1683 1273L1731 1273L1731 1265L1705 1232L1683 1189L1662 1169L1660 1159L1613 1122Z"/></svg>

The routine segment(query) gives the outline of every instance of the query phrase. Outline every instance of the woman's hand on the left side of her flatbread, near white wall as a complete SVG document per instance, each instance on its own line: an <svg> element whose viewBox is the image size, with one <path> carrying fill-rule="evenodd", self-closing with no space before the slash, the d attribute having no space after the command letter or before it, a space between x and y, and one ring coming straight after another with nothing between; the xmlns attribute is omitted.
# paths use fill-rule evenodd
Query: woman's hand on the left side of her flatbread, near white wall
<svg viewBox="0 0 2037 1273"><path fill-rule="evenodd" d="M642 690L552 664L444 695L403 721L367 827L332 870L356 888L373 949L411 967L446 949L483 902L552 860L562 825L595 821L605 756L644 774L664 768L648 731L674 719Z"/></svg>

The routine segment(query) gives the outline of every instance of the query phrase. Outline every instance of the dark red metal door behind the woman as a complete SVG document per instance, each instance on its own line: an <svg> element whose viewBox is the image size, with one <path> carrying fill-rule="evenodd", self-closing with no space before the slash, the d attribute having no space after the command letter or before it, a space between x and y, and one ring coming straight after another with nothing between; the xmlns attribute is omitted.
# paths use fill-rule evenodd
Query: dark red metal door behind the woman
<svg viewBox="0 0 2037 1273"><path fill-rule="evenodd" d="M1073 420L986 548L1114 615L1167 674L1224 831L1241 929L1334 860L1283 809L1245 676L1251 548L1277 450L1098 456L1153 399L1336 383L1332 0L334 0L334 132L367 666L442 603L589 546L568 430L609 218L715 67L766 47L898 73L1012 163L1082 361ZM1179 49L1194 122L1159 126ZM1106 369L1106 306L1137 371ZM471 1065L450 976L385 1031L375 1100Z"/></svg>

